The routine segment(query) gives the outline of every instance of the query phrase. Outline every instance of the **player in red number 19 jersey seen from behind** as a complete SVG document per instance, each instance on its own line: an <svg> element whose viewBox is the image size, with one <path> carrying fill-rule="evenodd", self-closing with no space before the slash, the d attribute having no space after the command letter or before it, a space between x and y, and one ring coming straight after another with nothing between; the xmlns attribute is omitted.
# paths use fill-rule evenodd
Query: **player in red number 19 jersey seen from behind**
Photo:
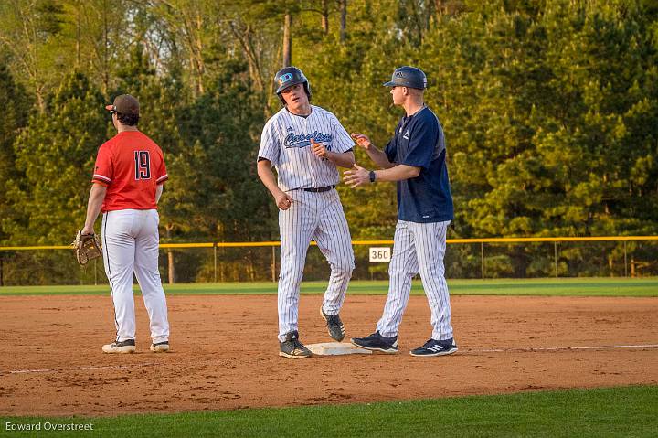
<svg viewBox="0 0 658 438"><path fill-rule="evenodd" d="M139 102L129 94L106 107L116 134L99 148L83 234L102 211L101 243L114 304L116 339L105 353L133 353L133 272L151 319L151 351L169 350L169 323L158 271L157 202L167 179L160 147L137 129Z"/></svg>

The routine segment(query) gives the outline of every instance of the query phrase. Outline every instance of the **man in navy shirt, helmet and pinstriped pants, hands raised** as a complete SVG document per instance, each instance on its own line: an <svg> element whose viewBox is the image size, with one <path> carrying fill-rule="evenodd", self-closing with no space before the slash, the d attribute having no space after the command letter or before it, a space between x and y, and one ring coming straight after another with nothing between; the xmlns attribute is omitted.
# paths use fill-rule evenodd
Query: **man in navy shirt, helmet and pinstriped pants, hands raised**
<svg viewBox="0 0 658 438"><path fill-rule="evenodd" d="M453 219L453 206L443 130L439 119L425 105L427 78L420 69L401 67L384 84L391 87L393 103L405 109L395 135L382 152L364 134L353 134L356 143L383 170L360 166L345 172L351 187L375 181L398 184L398 224L393 258L388 272L390 284L384 314L377 331L353 338L357 347L398 352L398 326L409 302L411 279L420 273L431 311L432 334L412 356L443 356L457 351L452 337L451 305L445 281L443 256L446 232Z"/></svg>

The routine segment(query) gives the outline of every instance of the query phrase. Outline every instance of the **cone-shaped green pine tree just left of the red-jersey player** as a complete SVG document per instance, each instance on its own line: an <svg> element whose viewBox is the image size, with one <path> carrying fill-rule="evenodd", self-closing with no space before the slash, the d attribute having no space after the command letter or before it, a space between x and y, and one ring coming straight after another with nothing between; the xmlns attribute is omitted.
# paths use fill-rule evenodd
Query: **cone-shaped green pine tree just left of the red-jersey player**
<svg viewBox="0 0 658 438"><path fill-rule="evenodd" d="M101 94L72 72L14 143L22 178L9 181L8 197L27 222L10 220L16 243L61 245L75 234L87 208L96 152L110 119Z"/></svg>

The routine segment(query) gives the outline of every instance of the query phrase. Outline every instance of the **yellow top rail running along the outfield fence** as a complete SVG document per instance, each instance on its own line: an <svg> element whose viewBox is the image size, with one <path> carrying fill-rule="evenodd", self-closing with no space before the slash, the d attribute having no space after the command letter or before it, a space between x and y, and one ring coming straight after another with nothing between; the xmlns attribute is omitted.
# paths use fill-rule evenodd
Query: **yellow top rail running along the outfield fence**
<svg viewBox="0 0 658 438"><path fill-rule="evenodd" d="M600 236L600 237L501 237L485 239L448 239L448 243L540 243L563 241L642 241L658 240L658 236ZM315 242L311 242L315 245ZM353 245L392 245L393 240L353 240ZM276 247L279 241L231 241L203 243L162 243L163 249L186 248L245 248L245 247ZM70 250L70 245L41 246L0 246L0 251L34 251L34 250Z"/></svg>

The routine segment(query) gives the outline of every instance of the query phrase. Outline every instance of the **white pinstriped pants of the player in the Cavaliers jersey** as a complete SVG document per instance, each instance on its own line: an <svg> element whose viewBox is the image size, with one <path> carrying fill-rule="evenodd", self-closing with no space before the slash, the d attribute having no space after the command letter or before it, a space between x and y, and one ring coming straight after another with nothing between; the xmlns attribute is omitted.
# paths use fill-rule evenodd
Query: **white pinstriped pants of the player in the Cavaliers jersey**
<svg viewBox="0 0 658 438"><path fill-rule="evenodd" d="M335 189L321 193L292 190L292 206L279 210L281 273L279 275L279 340L297 330L300 285L306 252L315 240L331 267L324 292L327 315L338 314L354 270L354 251L340 197Z"/></svg>

